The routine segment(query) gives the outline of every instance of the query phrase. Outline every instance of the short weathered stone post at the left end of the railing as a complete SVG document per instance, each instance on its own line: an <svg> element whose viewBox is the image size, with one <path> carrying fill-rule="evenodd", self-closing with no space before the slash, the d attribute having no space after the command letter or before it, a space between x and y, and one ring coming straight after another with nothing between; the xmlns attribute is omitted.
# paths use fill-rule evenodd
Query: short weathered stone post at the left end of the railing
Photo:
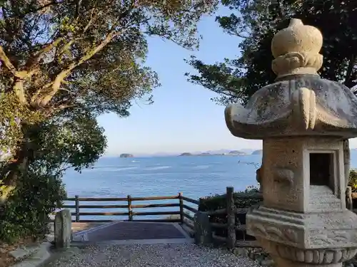
<svg viewBox="0 0 357 267"><path fill-rule="evenodd" d="M54 218L54 243L56 248L71 246L71 211L62 209Z"/></svg>

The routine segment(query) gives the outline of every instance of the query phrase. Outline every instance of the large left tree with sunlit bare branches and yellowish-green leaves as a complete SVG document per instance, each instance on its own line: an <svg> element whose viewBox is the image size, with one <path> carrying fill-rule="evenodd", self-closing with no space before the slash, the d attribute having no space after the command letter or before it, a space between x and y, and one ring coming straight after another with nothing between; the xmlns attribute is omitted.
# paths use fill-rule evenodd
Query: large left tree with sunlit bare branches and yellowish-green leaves
<svg viewBox="0 0 357 267"><path fill-rule="evenodd" d="M1 148L11 148L14 156L0 170L4 184L16 184L34 162L41 150L34 136L46 132L41 127L47 122L74 113L86 118L84 125L104 112L129 115L131 100L159 85L156 73L142 66L146 36L195 48L196 25L215 1L2 2L0 110L6 109L0 129L6 142Z"/></svg>

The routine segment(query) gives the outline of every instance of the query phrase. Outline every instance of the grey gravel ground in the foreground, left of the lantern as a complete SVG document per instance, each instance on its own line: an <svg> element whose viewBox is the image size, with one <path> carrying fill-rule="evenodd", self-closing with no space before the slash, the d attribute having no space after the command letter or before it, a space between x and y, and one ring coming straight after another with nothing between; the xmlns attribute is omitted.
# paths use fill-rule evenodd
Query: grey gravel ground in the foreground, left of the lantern
<svg viewBox="0 0 357 267"><path fill-rule="evenodd" d="M46 267L257 267L249 258L194 244L96 245L61 256Z"/></svg>

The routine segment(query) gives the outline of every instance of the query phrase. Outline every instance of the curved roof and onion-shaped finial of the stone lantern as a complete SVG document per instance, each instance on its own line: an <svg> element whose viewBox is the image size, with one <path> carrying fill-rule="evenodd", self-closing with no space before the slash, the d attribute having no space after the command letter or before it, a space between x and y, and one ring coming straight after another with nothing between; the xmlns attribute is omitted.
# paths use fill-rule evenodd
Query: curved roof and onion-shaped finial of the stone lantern
<svg viewBox="0 0 357 267"><path fill-rule="evenodd" d="M276 83L258 90L245 107L228 106L225 112L228 129L233 135L248 139L306 134L357 137L356 96L345 85L317 74L322 63L318 53L321 33L303 26L301 21L293 21L283 31L272 43L275 56L288 51L273 61L273 70L278 74ZM316 36L312 37L314 33ZM298 40L303 36L311 38Z"/></svg>

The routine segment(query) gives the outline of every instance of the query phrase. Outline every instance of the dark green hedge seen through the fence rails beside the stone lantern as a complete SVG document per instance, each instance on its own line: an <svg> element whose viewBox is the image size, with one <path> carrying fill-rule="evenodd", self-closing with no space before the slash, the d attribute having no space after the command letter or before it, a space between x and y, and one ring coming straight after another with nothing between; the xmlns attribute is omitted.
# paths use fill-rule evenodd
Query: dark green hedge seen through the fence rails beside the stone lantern
<svg viewBox="0 0 357 267"><path fill-rule="evenodd" d="M243 192L235 192L233 194L234 206L237 209L246 209L255 204L261 202L261 199L257 199L258 189L256 187L248 187ZM251 197L251 198L250 198ZM214 211L217 209L226 208L226 194L216 194L213 196L208 196L200 199L200 204L198 205L199 211ZM227 223L227 215L219 214L210 216L210 221L220 224ZM246 224L246 214L236 214L236 224ZM218 236L227 236L226 229L215 229L215 233ZM236 239L243 239L246 236L245 233L238 232ZM251 237L250 239L253 239Z"/></svg>

